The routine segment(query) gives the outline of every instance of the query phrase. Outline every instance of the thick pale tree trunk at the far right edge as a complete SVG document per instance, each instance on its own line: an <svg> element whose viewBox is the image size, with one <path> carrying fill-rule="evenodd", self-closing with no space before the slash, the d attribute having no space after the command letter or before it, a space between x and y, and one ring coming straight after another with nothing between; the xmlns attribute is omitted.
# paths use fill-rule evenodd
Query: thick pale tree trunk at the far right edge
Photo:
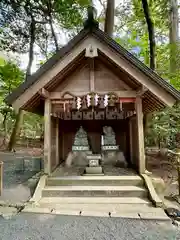
<svg viewBox="0 0 180 240"><path fill-rule="evenodd" d="M175 73L177 70L178 58L178 40L179 40L179 18L178 18L178 1L170 0L169 12L169 43L170 43L170 72Z"/></svg>

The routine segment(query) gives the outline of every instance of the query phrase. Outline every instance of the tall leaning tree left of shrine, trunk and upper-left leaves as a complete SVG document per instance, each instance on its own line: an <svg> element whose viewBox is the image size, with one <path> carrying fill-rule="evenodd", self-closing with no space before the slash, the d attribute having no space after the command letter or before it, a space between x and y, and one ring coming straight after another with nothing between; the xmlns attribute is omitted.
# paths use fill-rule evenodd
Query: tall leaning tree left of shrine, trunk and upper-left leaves
<svg viewBox="0 0 180 240"><path fill-rule="evenodd" d="M54 22L59 28L73 29L82 24L83 10L89 0L2 0L0 1L0 42L5 50L17 53L28 53L26 77L31 75L34 58L34 45L46 45L53 39L55 51L58 51L58 37L54 30ZM44 25L49 25L49 36ZM46 36L45 38L42 36ZM38 43L39 42L39 43ZM47 48L46 48L47 50ZM51 47L52 51L52 47ZM46 58L48 56L45 51ZM8 149L12 150L19 135L23 111L17 114Z"/></svg>

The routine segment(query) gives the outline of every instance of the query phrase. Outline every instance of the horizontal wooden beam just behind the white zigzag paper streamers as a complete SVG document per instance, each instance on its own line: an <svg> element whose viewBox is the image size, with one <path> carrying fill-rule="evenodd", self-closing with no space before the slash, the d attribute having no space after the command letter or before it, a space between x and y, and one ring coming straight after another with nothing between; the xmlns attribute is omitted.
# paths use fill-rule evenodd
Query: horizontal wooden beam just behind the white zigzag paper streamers
<svg viewBox="0 0 180 240"><path fill-rule="evenodd" d="M89 92L88 91L71 91L71 94L80 97L87 95ZM107 94L107 91L97 91L97 94L103 95ZM136 91L113 91L118 97L120 98L135 98L137 96ZM64 95L64 92L51 92L49 98L50 99L62 99L62 96ZM69 97L68 97L69 98ZM73 97L72 97L73 98Z"/></svg>

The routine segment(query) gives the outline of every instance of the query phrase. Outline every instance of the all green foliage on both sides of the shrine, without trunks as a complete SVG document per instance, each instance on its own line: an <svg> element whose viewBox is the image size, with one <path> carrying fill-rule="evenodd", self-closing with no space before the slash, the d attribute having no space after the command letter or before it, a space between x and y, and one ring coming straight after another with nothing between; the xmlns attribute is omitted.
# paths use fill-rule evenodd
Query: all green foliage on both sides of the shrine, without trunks
<svg viewBox="0 0 180 240"><path fill-rule="evenodd" d="M30 42L29 25L33 16L36 21L35 44L39 47L40 54L47 60L55 51L50 18L56 29L58 41L59 33L62 31L72 37L81 29L90 2L90 0L1 0L0 48L20 54L27 53ZM156 71L180 90L180 59L177 58L176 71L170 72L169 67L173 48L169 45L169 0L149 0L148 3L155 27ZM104 21L103 14L99 17L101 24ZM148 31L141 1L121 1L115 15L115 40L149 66ZM179 53L177 55L180 56ZM39 66L44 61L42 59ZM15 63L0 59L0 123L4 129L6 120L8 133L11 132L15 115L12 109L3 103L3 99L23 79L24 73ZM179 119L179 105L150 115L146 144L175 147L175 136L180 132ZM42 118L30 113L25 114L21 135L35 137L41 134Z"/></svg>

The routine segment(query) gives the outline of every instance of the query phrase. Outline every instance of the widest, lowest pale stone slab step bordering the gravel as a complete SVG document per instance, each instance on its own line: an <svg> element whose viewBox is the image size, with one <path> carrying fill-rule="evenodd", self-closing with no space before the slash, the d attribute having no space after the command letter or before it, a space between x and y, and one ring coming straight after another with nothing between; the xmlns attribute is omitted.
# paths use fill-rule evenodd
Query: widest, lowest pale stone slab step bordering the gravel
<svg viewBox="0 0 180 240"><path fill-rule="evenodd" d="M154 208L142 204L42 204L39 206L27 205L23 212L34 212L43 214L57 214L69 216L93 216L93 217L121 217L144 220L161 220L170 219L161 208Z"/></svg>

